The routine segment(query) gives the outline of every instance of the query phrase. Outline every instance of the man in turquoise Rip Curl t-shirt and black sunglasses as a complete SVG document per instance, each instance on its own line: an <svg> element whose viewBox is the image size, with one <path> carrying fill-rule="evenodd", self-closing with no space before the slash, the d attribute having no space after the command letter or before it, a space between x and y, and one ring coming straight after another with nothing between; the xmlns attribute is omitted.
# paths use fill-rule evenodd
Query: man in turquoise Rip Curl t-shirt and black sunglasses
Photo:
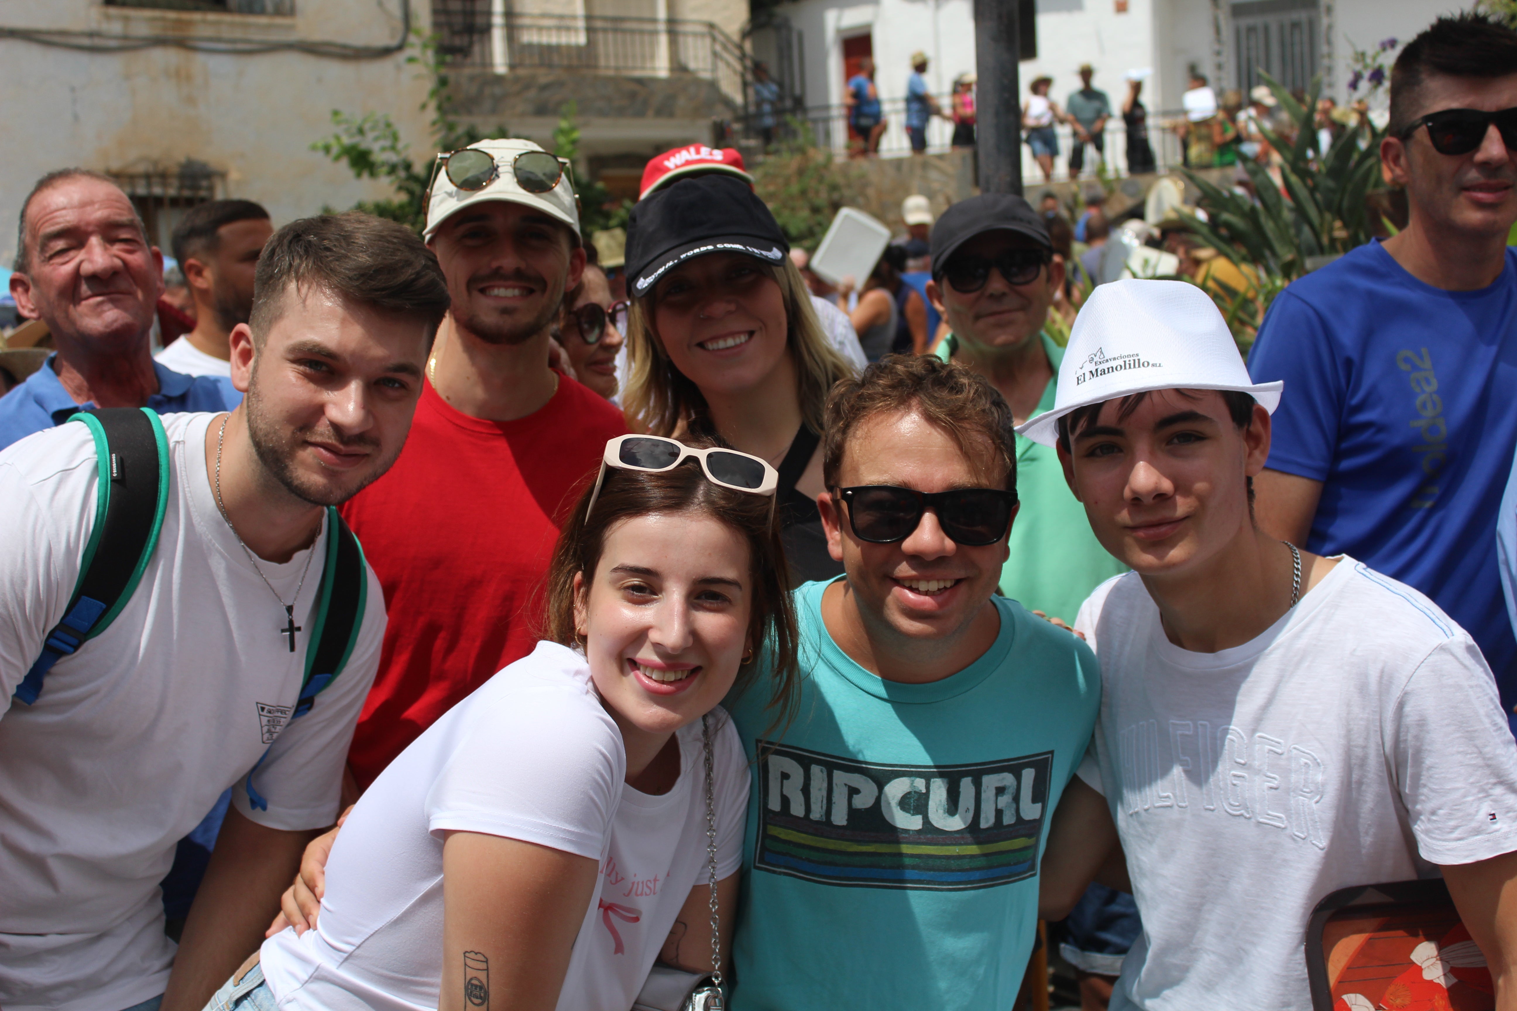
<svg viewBox="0 0 1517 1011"><path fill-rule="evenodd" d="M818 499L846 576L795 593L801 699L728 700L754 759L733 1008L1009 1008L1091 650L995 594L1012 412L933 356L834 391ZM924 497L925 496L925 497Z"/></svg>

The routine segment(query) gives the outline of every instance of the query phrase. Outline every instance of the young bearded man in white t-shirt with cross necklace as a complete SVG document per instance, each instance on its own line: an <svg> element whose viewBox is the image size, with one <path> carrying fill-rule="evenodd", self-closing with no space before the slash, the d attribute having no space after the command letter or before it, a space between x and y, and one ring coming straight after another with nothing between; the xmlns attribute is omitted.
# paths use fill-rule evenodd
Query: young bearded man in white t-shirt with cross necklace
<svg viewBox="0 0 1517 1011"><path fill-rule="evenodd" d="M102 467L82 423L0 452L6 1011L152 1009L161 994L164 1008L197 1009L258 946L311 829L337 814L384 635L364 567L346 665L291 717L322 620L326 506L400 452L446 309L435 258L400 226L341 215L281 230L252 326L232 332L246 400L164 418L162 526L141 582L17 700L79 579ZM176 958L158 882L234 784Z"/></svg>

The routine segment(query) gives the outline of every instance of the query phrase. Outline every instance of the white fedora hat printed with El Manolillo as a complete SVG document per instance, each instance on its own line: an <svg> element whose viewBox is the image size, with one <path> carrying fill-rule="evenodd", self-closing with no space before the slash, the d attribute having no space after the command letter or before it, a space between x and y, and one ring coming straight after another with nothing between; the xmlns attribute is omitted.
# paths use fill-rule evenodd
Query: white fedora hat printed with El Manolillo
<svg viewBox="0 0 1517 1011"><path fill-rule="evenodd" d="M1248 379L1211 296L1183 280L1100 285L1074 318L1053 411L1016 426L1035 443L1059 440L1059 418L1077 408L1148 390L1235 390L1274 414L1285 382Z"/></svg>

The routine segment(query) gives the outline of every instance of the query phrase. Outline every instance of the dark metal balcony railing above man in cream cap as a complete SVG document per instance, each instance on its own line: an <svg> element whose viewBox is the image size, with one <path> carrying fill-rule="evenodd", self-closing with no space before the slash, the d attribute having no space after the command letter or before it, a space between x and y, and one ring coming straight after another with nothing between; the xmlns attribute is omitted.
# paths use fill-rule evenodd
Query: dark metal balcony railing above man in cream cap
<svg viewBox="0 0 1517 1011"><path fill-rule="evenodd" d="M488 0L432 0L432 27L449 68L692 74L715 83L739 106L748 94L742 47L708 21L517 14L493 9Z"/></svg>

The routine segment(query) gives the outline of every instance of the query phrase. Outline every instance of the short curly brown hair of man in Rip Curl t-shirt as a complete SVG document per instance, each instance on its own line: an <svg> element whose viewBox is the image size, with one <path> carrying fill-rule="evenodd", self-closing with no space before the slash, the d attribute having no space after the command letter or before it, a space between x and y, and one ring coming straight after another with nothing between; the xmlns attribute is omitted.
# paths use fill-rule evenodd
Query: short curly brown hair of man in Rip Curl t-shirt
<svg viewBox="0 0 1517 1011"><path fill-rule="evenodd" d="M954 441L966 459L985 446L1006 467L1006 490L1016 491L1016 432L1012 408L985 376L933 355L886 355L857 379L843 379L827 397L822 480L837 487L843 449L859 423L875 414L915 411Z"/></svg>

